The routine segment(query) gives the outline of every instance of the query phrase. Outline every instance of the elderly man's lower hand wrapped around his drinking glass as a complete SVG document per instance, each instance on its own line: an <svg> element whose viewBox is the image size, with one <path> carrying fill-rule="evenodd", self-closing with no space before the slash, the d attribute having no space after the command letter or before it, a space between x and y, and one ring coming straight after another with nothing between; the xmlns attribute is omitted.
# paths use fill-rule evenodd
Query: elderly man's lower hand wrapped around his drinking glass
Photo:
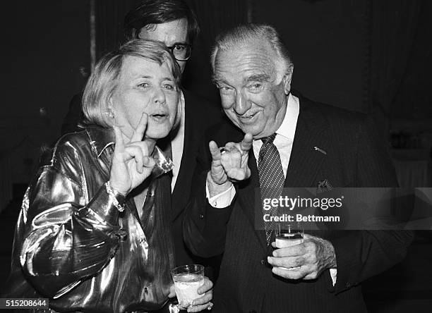
<svg viewBox="0 0 432 313"><path fill-rule="evenodd" d="M275 243L272 243L273 247ZM268 257L272 272L288 279L316 279L336 267L335 249L328 240L304 234L304 243L273 251Z"/></svg>

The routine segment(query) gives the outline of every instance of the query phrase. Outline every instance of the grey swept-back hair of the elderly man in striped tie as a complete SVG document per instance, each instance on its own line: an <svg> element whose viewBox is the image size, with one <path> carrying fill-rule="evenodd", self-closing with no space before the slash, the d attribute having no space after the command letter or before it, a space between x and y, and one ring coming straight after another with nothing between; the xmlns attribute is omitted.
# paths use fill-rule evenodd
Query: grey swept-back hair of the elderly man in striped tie
<svg viewBox="0 0 432 313"><path fill-rule="evenodd" d="M250 23L231 28L216 37L210 56L213 73L215 72L215 59L218 51L241 47L242 44L248 44L256 41L256 39L258 42L267 41L272 50L275 51L277 56L275 68L279 73L285 74L292 70L292 58L275 27L267 24Z"/></svg>

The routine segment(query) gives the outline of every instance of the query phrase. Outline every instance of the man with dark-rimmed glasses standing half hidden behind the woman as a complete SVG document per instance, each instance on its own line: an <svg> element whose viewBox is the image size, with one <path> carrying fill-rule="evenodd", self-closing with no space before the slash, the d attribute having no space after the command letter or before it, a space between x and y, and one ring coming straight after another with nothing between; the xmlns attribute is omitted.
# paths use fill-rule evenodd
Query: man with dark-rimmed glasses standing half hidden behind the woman
<svg viewBox="0 0 432 313"><path fill-rule="evenodd" d="M147 39L164 43L172 50L183 73L191 56L192 45L198 36L196 16L183 0L144 0L129 11L124 20L126 39ZM172 233L176 252L176 264L201 263L208 260L193 257L183 242L183 212L191 189L191 176L196 166L198 143L204 130L220 120L216 106L188 90L181 92L181 122L176 131L158 146L172 154ZM73 97L68 115L62 125L62 133L75 131L82 120L80 94ZM215 261L217 267L217 261ZM206 273L212 279L212 272Z"/></svg>

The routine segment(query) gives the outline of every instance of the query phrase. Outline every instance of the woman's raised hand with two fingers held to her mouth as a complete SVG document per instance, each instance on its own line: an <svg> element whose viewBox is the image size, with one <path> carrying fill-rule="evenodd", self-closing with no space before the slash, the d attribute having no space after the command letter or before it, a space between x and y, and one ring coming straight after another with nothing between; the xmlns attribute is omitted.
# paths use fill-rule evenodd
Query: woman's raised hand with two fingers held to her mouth
<svg viewBox="0 0 432 313"><path fill-rule="evenodd" d="M118 126L113 126L116 145L112 157L111 176L109 183L114 190L128 195L133 188L143 183L150 176L155 160L149 155L148 145L143 140L147 128L148 115L143 113L138 126L133 130L131 141L124 143L123 135Z"/></svg>

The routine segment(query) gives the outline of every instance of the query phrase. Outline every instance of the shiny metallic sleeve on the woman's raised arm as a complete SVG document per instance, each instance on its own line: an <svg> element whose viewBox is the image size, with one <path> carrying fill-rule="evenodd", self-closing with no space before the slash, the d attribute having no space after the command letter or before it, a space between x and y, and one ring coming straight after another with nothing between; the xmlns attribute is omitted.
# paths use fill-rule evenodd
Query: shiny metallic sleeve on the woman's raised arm
<svg viewBox="0 0 432 313"><path fill-rule="evenodd" d="M32 285L59 297L101 271L119 240L119 211L102 183L88 198L85 157L60 141L25 195L18 228L23 229L20 264ZM19 230L18 230L19 231Z"/></svg>

